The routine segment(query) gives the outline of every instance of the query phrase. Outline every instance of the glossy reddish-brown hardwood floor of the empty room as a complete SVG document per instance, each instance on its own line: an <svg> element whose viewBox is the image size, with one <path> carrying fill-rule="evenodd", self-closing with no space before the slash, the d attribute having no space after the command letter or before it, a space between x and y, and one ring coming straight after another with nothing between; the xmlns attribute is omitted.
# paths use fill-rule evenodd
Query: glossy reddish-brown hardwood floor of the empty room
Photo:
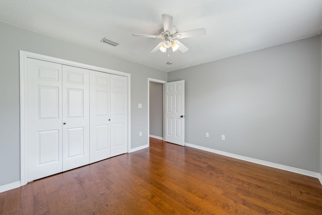
<svg viewBox="0 0 322 215"><path fill-rule="evenodd" d="M322 214L318 179L150 138L0 193L0 214Z"/></svg>

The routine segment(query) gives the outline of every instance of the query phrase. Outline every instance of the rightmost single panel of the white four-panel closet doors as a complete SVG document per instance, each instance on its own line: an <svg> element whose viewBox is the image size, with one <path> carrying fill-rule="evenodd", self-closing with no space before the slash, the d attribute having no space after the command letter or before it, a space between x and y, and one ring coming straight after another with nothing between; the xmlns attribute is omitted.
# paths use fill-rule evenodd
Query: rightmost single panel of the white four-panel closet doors
<svg viewBox="0 0 322 215"><path fill-rule="evenodd" d="M111 75L111 157L127 152L127 77Z"/></svg>

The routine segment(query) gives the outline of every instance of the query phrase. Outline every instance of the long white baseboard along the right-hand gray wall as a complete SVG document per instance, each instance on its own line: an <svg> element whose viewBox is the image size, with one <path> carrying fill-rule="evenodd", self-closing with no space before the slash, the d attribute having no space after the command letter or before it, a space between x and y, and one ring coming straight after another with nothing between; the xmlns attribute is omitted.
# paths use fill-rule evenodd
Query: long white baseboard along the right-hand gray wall
<svg viewBox="0 0 322 215"><path fill-rule="evenodd" d="M298 174L301 174L301 175L307 175L307 176L310 176L310 177L313 177L313 178L317 178L320 181L321 185L322 185L322 175L320 173L311 172L311 171L303 170L303 169L298 169L298 168L295 168L295 167L289 167L289 166L285 166L285 165L281 165L281 164L275 164L275 163L272 163L272 162L262 161L262 160L259 160L259 159L249 158L249 157L236 155L236 154L232 154L232 153L227 153L227 152L223 152L223 151L219 151L219 150L214 150L214 149L210 149L210 148L206 148L206 147L197 146L197 145L194 145L194 144L188 144L187 142L185 144L186 144L187 147L192 147L192 148L195 148L195 149L199 149L199 150L203 150L203 151L207 151L207 152L227 156L227 157L230 157L230 158L235 158L235 159L239 159L239 160L243 160L243 161L248 161L248 162L252 162L252 163L255 163L255 164L260 164L260 165L264 165L264 166L268 166L268 167L273 167L273 168L276 168L276 169L286 170L286 171L298 173Z"/></svg>

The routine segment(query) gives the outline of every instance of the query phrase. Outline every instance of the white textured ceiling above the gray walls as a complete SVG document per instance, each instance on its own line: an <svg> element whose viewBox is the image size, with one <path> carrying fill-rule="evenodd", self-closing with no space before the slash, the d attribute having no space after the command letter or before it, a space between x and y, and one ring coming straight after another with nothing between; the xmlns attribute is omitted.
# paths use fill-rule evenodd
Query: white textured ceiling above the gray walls
<svg viewBox="0 0 322 215"><path fill-rule="evenodd" d="M185 53L149 53L162 40L132 34L158 35L162 14L174 17L179 32L206 28L207 34L180 39L189 48ZM322 1L3 0L0 21L172 71L318 35ZM102 43L103 37L120 44Z"/></svg>

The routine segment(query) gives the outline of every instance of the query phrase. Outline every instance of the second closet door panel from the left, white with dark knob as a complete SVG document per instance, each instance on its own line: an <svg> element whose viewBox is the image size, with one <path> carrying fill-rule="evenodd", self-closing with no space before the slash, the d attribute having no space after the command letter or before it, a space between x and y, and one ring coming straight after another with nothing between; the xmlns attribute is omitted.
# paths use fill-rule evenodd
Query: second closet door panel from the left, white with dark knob
<svg viewBox="0 0 322 215"><path fill-rule="evenodd" d="M89 70L62 66L63 171L90 163Z"/></svg>

